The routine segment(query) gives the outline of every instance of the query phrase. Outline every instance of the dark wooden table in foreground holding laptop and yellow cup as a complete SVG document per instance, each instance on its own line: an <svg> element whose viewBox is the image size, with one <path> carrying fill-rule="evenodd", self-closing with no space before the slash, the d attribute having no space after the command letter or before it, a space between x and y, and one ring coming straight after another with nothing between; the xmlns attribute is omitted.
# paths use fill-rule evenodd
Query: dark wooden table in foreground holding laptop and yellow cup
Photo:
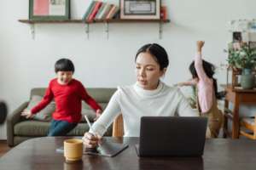
<svg viewBox="0 0 256 170"><path fill-rule="evenodd" d="M202 157L137 157L135 144L138 138L111 138L125 142L129 147L118 156L83 156L83 161L68 164L63 154L55 149L63 144L63 137L44 137L29 139L17 145L0 158L1 170L58 170L58 169L255 169L256 142L247 139L207 139Z"/></svg>

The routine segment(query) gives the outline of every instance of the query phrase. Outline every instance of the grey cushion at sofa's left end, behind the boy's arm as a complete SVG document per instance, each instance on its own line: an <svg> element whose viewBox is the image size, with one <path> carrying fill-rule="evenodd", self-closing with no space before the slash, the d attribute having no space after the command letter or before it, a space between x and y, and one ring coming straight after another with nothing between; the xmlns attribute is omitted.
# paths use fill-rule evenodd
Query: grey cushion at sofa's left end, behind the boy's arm
<svg viewBox="0 0 256 170"><path fill-rule="evenodd" d="M33 95L29 104L27 105L28 110L32 110L32 108L43 99L42 96ZM32 117L34 120L49 122L51 120L51 115L55 111L55 102L50 102L43 110L39 111L35 116Z"/></svg>

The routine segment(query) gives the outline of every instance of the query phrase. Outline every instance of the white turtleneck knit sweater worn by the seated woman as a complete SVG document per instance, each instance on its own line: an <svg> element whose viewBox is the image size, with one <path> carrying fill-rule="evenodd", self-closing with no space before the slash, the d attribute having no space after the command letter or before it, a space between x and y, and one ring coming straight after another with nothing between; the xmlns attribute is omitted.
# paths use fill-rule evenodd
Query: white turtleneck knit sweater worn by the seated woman
<svg viewBox="0 0 256 170"><path fill-rule="evenodd" d="M102 136L119 113L123 115L125 137L139 136L141 116L199 116L178 88L160 82L158 88L145 90L134 84L118 88L90 133Z"/></svg>

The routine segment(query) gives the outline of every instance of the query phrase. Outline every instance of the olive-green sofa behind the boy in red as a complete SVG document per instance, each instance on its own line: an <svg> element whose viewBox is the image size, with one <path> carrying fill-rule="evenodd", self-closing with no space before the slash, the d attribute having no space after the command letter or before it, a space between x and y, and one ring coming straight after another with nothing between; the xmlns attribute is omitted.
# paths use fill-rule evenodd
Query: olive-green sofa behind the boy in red
<svg viewBox="0 0 256 170"><path fill-rule="evenodd" d="M32 96L44 96L46 88L32 88L30 94L30 100ZM104 110L108 105L108 101L116 91L116 88L86 88L88 94L96 102L102 106ZM84 103L84 102L83 102ZM46 136L49 131L50 122L43 122L33 119L25 119L23 116L20 116L21 111L23 111L29 101L26 101L20 105L12 114L9 114L7 119L7 142L9 146L15 146L20 144L26 139L32 139L36 137ZM90 110L88 105L83 104L84 109ZM68 136L83 136L85 132L89 130L89 126L86 122L80 122L77 127L75 127L70 133L67 133ZM112 126L108 128L106 136L112 135Z"/></svg>

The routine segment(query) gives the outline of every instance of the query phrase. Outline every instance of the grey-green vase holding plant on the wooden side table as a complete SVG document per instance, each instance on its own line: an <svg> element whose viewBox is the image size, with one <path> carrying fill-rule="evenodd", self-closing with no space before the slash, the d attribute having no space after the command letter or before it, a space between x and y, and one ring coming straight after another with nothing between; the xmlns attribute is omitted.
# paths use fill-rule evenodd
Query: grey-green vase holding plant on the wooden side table
<svg viewBox="0 0 256 170"><path fill-rule="evenodd" d="M241 72L241 88L251 89L254 87L255 77L252 74L252 69L244 68Z"/></svg>

